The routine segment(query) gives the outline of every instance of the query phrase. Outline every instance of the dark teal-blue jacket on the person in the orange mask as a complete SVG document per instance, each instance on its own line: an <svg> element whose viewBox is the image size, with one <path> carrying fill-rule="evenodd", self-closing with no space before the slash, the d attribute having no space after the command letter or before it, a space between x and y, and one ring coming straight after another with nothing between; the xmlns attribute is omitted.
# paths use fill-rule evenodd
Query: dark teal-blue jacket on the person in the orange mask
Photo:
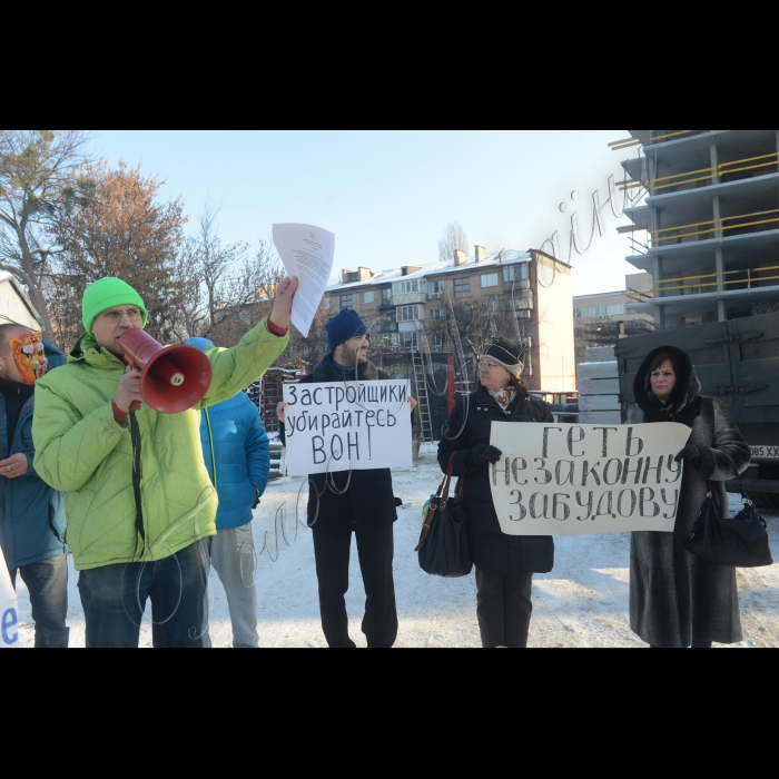
<svg viewBox="0 0 779 779"><path fill-rule="evenodd" d="M43 342L49 371L65 365L65 355ZM29 471L17 479L0 479L0 542L10 570L56 558L67 552L65 545L65 496L41 481L32 467L32 411L34 395L22 408L8 441L6 403L0 395L0 452L2 460L23 452Z"/></svg>

